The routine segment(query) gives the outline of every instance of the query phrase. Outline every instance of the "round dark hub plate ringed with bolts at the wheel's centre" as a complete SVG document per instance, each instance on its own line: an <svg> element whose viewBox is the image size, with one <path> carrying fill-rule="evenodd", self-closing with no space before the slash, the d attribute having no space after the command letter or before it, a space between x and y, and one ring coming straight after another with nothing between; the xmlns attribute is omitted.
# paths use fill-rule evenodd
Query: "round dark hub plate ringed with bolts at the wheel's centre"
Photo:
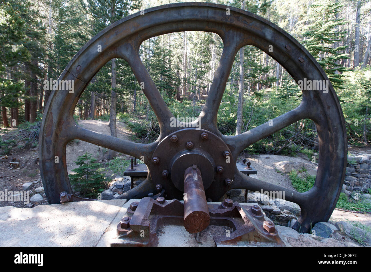
<svg viewBox="0 0 371 272"><path fill-rule="evenodd" d="M203 133L207 133L207 137L203 138ZM196 128L174 131L160 141L152 155L152 182L162 185L167 198L183 199L184 171L196 164L201 171L206 198L218 201L229 188L224 180L234 177L234 159L225 157L225 151L232 154L226 143L213 132ZM152 161L155 157L157 163ZM219 166L223 167L222 173L217 172ZM164 170L169 172L167 177L162 176Z"/></svg>

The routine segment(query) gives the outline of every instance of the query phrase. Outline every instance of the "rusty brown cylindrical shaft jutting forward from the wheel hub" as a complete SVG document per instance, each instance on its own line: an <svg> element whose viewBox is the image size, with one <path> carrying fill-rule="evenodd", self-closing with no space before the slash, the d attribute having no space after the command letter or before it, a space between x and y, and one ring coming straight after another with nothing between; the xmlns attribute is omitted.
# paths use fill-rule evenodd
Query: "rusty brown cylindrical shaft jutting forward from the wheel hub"
<svg viewBox="0 0 371 272"><path fill-rule="evenodd" d="M184 172L184 228L189 233L203 231L210 224L201 171L196 165Z"/></svg>

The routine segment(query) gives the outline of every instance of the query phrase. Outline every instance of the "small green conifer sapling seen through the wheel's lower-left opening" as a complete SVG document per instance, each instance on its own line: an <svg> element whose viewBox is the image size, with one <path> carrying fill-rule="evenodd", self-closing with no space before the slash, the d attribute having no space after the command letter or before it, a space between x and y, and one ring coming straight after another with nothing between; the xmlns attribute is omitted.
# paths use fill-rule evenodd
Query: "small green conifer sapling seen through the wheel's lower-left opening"
<svg viewBox="0 0 371 272"><path fill-rule="evenodd" d="M79 156L75 163L79 167L73 169L76 174L68 175L70 184L84 197L97 198L98 193L104 191L106 186L105 176L99 169L101 164L96 163L90 153Z"/></svg>

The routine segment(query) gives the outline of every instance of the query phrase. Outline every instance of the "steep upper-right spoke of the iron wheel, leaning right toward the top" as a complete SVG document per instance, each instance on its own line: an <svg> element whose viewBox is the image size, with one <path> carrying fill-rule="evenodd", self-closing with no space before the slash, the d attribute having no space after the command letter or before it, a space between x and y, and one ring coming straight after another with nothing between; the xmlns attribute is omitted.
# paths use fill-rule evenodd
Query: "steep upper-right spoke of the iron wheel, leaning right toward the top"
<svg viewBox="0 0 371 272"><path fill-rule="evenodd" d="M243 38L240 33L230 31L224 38L224 48L221 54L219 65L215 71L206 103L200 113L201 126L211 131L217 131L217 115L221 99L229 78L230 71L237 51L243 45Z"/></svg>

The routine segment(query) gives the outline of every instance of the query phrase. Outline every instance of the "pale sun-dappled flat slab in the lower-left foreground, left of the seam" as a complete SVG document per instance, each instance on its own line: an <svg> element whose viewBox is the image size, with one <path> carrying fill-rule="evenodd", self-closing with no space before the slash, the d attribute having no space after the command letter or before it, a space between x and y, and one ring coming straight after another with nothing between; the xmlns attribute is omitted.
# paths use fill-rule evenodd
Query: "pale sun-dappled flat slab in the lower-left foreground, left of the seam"
<svg viewBox="0 0 371 272"><path fill-rule="evenodd" d="M0 246L96 246L125 199L0 207Z"/></svg>

